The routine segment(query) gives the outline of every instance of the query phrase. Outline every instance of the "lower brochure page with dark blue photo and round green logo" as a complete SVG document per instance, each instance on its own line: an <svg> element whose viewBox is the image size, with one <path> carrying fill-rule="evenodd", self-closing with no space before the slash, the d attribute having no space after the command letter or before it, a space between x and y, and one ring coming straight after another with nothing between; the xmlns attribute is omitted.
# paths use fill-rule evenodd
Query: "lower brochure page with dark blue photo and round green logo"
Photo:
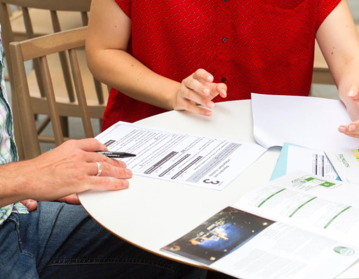
<svg viewBox="0 0 359 279"><path fill-rule="evenodd" d="M241 279L333 279L359 258L353 245L233 207L162 250Z"/></svg>

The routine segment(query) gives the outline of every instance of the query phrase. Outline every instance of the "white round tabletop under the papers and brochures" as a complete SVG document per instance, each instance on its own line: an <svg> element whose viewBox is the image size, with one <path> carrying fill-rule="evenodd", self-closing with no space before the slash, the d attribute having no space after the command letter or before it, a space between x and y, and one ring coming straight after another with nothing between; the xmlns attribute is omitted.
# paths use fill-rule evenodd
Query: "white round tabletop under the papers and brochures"
<svg viewBox="0 0 359 279"><path fill-rule="evenodd" d="M171 111L138 123L189 134L255 142L250 100L216 103L211 117ZM279 151L280 147L270 148L222 191L134 176L126 190L91 190L80 193L79 198L97 222L121 239L163 257L200 266L160 249L233 205L253 187L269 181ZM359 269L356 274L359 275Z"/></svg>

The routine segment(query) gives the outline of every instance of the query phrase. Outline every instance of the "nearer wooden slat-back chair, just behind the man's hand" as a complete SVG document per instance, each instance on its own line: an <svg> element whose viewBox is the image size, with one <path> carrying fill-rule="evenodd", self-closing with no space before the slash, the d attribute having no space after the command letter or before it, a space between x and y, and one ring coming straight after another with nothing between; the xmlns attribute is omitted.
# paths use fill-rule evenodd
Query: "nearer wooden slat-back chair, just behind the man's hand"
<svg viewBox="0 0 359 279"><path fill-rule="evenodd" d="M87 27L81 27L69 31L63 31L41 37L10 43L10 54L13 63L13 78L15 84L20 129L26 159L39 155L39 137L37 135L33 114L35 111L41 114L49 114L54 132L56 145L61 144L67 138L63 136L60 116L81 117L85 137L93 137L90 117L102 118L106 104L99 100L90 101L83 82L83 71L80 70L77 54L78 50L85 45ZM68 97L57 96L53 87L47 57L59 52L67 52L71 67L76 98L69 101ZM37 98L30 95L28 80L26 77L24 62L37 58L39 60L39 71L44 81L45 96Z"/></svg>

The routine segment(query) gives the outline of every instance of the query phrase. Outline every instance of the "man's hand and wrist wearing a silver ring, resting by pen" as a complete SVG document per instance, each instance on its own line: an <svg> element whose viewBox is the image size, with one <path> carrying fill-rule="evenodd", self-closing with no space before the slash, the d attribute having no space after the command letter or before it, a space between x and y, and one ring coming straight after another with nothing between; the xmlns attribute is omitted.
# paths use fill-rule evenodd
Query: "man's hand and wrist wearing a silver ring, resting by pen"
<svg viewBox="0 0 359 279"><path fill-rule="evenodd" d="M132 172L126 164L95 151L107 147L96 139L68 140L34 159L0 166L0 206L30 198L72 203L78 202L69 196L73 193L128 188ZM96 162L102 167L100 176Z"/></svg>

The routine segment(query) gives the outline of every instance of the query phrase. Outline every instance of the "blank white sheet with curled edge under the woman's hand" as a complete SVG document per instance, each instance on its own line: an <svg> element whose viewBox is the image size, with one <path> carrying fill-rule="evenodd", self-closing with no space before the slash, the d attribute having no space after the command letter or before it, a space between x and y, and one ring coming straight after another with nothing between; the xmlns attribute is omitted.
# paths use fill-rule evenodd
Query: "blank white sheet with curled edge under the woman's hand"
<svg viewBox="0 0 359 279"><path fill-rule="evenodd" d="M359 139L338 132L351 123L341 101L252 93L254 138L262 146L293 142L318 150L358 148Z"/></svg>

